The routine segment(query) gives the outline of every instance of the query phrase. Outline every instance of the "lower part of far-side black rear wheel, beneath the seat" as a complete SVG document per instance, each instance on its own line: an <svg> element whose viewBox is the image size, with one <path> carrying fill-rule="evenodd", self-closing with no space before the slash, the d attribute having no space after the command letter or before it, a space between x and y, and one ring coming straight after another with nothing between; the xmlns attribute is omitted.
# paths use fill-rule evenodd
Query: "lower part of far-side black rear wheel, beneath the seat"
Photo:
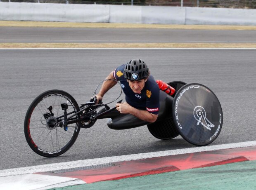
<svg viewBox="0 0 256 190"><path fill-rule="evenodd" d="M173 118L148 124L147 128L154 137L161 140L172 139L179 135L179 131L175 127Z"/></svg>

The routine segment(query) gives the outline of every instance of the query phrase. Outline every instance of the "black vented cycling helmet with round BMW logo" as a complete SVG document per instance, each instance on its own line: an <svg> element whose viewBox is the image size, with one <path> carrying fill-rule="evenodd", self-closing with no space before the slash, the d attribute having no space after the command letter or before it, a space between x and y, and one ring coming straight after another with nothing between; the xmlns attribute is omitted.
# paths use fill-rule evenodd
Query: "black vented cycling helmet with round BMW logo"
<svg viewBox="0 0 256 190"><path fill-rule="evenodd" d="M132 59L123 70L124 77L128 80L142 80L149 76L149 68L141 59Z"/></svg>

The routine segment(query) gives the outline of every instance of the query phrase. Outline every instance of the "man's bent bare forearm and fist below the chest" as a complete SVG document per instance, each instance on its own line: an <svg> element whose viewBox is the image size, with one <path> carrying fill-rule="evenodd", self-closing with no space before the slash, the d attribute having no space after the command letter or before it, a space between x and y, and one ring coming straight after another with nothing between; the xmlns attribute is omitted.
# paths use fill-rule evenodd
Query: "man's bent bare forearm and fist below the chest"
<svg viewBox="0 0 256 190"><path fill-rule="evenodd" d="M150 123L155 122L158 116L158 114L156 115L153 113L149 113L146 110L138 110L130 106L128 103L117 103L116 110L118 110L120 113L130 113L135 117L138 117L139 119Z"/></svg>

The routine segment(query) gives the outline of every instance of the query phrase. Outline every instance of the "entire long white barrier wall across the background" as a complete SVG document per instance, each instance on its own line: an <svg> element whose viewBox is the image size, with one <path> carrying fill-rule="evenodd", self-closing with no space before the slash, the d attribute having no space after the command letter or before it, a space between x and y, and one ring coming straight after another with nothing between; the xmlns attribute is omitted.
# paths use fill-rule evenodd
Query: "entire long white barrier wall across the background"
<svg viewBox="0 0 256 190"><path fill-rule="evenodd" d="M0 20L256 25L256 9L0 2Z"/></svg>

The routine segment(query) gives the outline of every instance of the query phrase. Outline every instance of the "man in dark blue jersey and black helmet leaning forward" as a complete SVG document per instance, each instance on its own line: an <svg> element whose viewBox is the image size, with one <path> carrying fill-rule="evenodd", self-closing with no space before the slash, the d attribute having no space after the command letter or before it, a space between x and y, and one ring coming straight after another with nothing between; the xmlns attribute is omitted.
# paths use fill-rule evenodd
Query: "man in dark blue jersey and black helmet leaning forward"
<svg viewBox="0 0 256 190"><path fill-rule="evenodd" d="M120 113L130 113L140 120L155 122L159 112L159 86L154 77L149 75L149 68L141 59L132 59L117 67L106 78L97 101L120 81L126 103L117 103L116 110ZM112 80L111 80L112 79Z"/></svg>

